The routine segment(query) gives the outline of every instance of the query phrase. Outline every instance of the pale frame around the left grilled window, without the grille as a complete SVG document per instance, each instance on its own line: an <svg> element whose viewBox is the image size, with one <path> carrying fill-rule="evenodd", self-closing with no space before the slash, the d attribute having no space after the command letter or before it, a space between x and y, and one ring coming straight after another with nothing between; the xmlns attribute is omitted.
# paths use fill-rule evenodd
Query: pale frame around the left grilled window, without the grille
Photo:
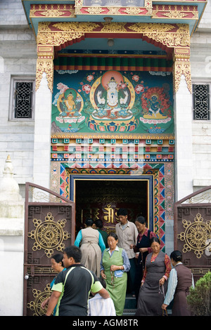
<svg viewBox="0 0 211 330"><path fill-rule="evenodd" d="M32 83L32 117L16 118L15 117L15 84L18 81ZM10 110L9 121L34 121L34 96L35 96L35 77L34 76L12 76L11 77L11 93L10 93Z"/></svg>

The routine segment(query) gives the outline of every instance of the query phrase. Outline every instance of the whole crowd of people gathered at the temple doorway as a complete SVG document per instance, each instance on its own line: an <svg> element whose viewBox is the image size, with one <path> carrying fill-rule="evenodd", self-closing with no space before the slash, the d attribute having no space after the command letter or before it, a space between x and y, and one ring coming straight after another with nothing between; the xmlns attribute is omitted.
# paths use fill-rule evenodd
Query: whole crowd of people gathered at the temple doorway
<svg viewBox="0 0 211 330"><path fill-rule="evenodd" d="M186 296L193 284L180 251L162 252L160 240L146 219L134 223L127 209L118 209L115 231L91 218L73 246L51 258L57 275L51 296L41 305L46 316L122 316L126 294L136 298L136 316L189 316Z"/></svg>

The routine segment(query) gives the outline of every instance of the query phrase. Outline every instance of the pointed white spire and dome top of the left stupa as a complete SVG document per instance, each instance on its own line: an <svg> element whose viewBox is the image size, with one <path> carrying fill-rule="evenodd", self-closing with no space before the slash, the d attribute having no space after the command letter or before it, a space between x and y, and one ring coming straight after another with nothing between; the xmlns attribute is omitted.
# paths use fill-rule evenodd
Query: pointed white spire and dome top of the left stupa
<svg viewBox="0 0 211 330"><path fill-rule="evenodd" d="M20 195L20 189L17 181L13 178L13 164L10 155L8 155L4 171L3 178L0 180L0 202L21 202L22 197Z"/></svg>

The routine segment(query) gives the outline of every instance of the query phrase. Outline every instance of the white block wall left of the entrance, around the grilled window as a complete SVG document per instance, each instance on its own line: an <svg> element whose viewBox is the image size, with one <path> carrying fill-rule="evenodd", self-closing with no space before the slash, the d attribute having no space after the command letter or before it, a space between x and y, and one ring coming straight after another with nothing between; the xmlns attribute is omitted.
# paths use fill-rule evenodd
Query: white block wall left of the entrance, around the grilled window
<svg viewBox="0 0 211 330"><path fill-rule="evenodd" d="M21 186L33 180L34 121L8 120L11 77L35 78L37 60L36 41L21 1L0 1L0 30L0 179L9 154Z"/></svg>

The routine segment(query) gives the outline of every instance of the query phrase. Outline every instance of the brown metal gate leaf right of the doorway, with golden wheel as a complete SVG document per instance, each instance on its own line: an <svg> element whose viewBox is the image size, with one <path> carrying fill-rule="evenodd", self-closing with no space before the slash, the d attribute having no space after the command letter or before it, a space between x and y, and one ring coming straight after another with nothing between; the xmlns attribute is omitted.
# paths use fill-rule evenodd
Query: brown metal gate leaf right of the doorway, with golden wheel
<svg viewBox="0 0 211 330"><path fill-rule="evenodd" d="M211 186L174 204L174 249L195 282L211 271Z"/></svg>

